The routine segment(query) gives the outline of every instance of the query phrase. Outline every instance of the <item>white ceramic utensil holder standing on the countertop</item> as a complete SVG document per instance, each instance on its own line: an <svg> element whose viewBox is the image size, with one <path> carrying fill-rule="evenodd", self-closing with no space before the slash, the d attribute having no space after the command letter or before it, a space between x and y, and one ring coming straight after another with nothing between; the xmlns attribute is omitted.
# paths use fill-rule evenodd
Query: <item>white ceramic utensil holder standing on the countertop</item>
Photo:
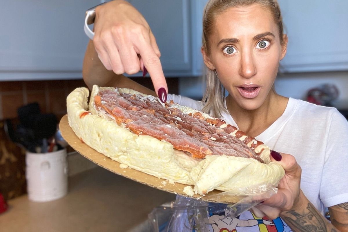
<svg viewBox="0 0 348 232"><path fill-rule="evenodd" d="M26 152L26 181L29 200L52 201L68 192L66 149L48 152Z"/></svg>

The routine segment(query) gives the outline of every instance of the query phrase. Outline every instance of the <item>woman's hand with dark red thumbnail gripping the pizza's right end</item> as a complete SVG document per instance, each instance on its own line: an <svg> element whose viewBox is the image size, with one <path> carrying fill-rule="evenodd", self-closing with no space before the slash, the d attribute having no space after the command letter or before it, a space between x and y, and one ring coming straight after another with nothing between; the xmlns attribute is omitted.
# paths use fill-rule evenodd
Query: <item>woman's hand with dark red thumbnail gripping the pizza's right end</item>
<svg viewBox="0 0 348 232"><path fill-rule="evenodd" d="M272 162L279 163L285 175L280 179L277 194L253 208L257 217L266 215L269 219L277 218L283 211L292 210L301 205L303 193L300 188L301 167L290 154L271 151Z"/></svg>

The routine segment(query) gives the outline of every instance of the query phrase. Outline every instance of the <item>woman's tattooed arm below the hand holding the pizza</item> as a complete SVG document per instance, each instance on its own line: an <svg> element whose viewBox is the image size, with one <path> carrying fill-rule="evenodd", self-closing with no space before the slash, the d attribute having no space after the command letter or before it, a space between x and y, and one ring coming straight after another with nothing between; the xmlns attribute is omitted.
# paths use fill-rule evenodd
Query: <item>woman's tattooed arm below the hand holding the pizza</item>
<svg viewBox="0 0 348 232"><path fill-rule="evenodd" d="M345 216L347 217L347 210ZM280 217L283 218L293 231L348 231L347 224L345 224L346 227L344 225L343 227L339 227L337 223L331 221L331 224L327 221L312 203L309 202L302 191L296 206L292 210L282 212Z"/></svg>

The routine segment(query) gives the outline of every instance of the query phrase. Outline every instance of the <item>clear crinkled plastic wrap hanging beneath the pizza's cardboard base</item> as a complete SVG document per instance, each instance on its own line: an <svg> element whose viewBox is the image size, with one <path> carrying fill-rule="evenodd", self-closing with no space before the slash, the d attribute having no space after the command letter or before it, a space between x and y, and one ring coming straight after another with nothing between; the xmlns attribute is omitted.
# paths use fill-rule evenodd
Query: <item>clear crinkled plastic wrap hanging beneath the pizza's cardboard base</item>
<svg viewBox="0 0 348 232"><path fill-rule="evenodd" d="M156 207L149 214L150 231L154 232L208 232L212 231L210 224L213 224L211 216L220 215L232 219L244 211L258 205L265 199L277 193L276 186L261 185L251 186L249 190L253 194L240 196L235 203L214 203L200 199L177 195L173 202L165 203ZM219 199L236 199L235 195L229 192L222 192L213 195L214 201ZM238 199L238 198L237 198ZM209 220L210 219L210 220Z"/></svg>

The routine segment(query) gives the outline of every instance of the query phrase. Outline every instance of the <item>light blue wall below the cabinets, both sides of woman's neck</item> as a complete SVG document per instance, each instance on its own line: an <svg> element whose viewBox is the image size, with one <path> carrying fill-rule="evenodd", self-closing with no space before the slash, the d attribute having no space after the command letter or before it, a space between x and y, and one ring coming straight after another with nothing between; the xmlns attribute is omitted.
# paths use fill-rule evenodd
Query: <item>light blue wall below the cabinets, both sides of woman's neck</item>
<svg viewBox="0 0 348 232"><path fill-rule="evenodd" d="M279 74L275 81L278 94L305 99L307 91L324 83L332 83L339 90L339 97L334 102L338 109L348 109L348 71L339 72L307 72ZM179 93L197 100L202 98L205 82L201 77L181 78Z"/></svg>

